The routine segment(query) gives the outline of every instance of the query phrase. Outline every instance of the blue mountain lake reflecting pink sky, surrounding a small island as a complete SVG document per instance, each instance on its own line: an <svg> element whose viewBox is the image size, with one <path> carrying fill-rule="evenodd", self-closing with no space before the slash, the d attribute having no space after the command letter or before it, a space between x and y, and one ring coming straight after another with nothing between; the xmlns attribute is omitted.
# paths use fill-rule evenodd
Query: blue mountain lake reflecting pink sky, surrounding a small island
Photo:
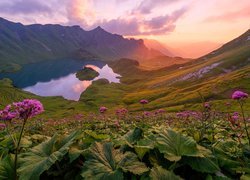
<svg viewBox="0 0 250 180"><path fill-rule="evenodd" d="M99 75L90 81L80 81L76 72L85 66L96 70ZM119 83L120 75L113 72L106 63L97 60L62 59L23 65L15 73L0 73L0 79L9 78L14 86L39 96L62 96L78 101L83 91L93 81L107 79Z"/></svg>

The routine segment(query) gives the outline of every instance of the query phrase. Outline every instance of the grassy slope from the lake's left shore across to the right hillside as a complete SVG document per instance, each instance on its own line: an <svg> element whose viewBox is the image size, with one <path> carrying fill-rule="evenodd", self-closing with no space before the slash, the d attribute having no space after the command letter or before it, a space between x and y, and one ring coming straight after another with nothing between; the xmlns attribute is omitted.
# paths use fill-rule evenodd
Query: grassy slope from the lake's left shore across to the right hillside
<svg viewBox="0 0 250 180"><path fill-rule="evenodd" d="M100 106L107 106L109 109L124 106L129 110L138 111L142 110L138 103L140 99L150 101L146 106L148 110L167 108L169 111L178 111L199 107L200 93L206 101L213 101L219 109L226 110L227 107L221 103L231 101L228 99L233 90L241 89L250 92L249 42L233 46L230 50L228 46L225 46L226 48L218 50L216 55L204 56L206 58L158 70L142 69L136 61L131 60L110 63L114 71L123 76L122 83L109 84L103 80L94 82L82 94L79 102L67 101L60 97L34 96L13 88L9 82L1 82L0 97L3 97L3 101L1 100L0 103L3 106L22 98L37 98L44 103L47 109L46 116L66 116L86 111L97 112ZM187 74L197 72L214 63L220 64L203 77L180 80ZM232 104L233 108L237 107L235 102ZM249 111L249 109L248 99L246 110Z"/></svg>

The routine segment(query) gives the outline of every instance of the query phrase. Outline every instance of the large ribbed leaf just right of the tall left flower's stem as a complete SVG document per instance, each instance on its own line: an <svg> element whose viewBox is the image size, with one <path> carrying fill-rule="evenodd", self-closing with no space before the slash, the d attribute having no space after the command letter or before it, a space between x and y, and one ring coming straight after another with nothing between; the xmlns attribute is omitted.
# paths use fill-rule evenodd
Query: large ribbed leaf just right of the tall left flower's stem
<svg viewBox="0 0 250 180"><path fill-rule="evenodd" d="M33 147L29 152L22 154L21 167L18 169L20 179L38 180L40 175L48 170L56 161L60 161L73 144L78 132L66 137L54 135L49 141Z"/></svg>

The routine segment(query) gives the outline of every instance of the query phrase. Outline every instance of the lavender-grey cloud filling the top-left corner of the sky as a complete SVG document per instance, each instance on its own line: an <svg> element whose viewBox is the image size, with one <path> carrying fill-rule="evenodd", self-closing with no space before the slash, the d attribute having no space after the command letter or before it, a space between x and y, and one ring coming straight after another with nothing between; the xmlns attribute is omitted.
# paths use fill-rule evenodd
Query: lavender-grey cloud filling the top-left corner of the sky
<svg viewBox="0 0 250 180"><path fill-rule="evenodd" d="M43 2L43 1L42 1ZM6 14L51 14L52 9L44 3L37 0L12 0L2 1L0 12Z"/></svg>

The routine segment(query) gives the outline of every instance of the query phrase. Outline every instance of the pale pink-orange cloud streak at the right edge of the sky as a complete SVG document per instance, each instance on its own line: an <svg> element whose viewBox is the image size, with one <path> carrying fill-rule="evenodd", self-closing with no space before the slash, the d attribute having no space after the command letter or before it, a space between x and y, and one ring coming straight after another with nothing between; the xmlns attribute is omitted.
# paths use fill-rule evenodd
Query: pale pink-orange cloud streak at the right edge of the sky
<svg viewBox="0 0 250 180"><path fill-rule="evenodd" d="M250 19L250 6L244 7L242 9L239 9L237 11L230 11L221 15L217 16L210 16L207 19L205 19L205 22L232 22L236 21L238 19L242 18L248 18Z"/></svg>

